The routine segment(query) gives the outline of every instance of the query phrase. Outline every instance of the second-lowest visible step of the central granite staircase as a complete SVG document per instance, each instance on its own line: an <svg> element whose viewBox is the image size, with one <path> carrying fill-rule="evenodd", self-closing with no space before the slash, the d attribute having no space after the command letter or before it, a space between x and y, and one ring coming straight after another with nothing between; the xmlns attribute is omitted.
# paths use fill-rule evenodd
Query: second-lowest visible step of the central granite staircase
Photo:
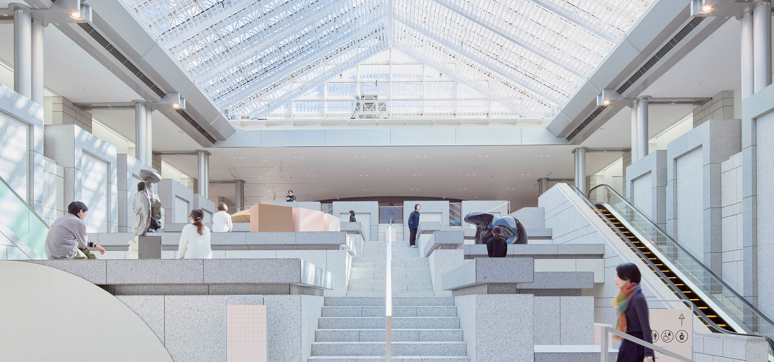
<svg viewBox="0 0 774 362"><path fill-rule="evenodd" d="M460 356L464 342L392 342L393 356ZM314 342L313 356L384 356L384 342Z"/></svg>

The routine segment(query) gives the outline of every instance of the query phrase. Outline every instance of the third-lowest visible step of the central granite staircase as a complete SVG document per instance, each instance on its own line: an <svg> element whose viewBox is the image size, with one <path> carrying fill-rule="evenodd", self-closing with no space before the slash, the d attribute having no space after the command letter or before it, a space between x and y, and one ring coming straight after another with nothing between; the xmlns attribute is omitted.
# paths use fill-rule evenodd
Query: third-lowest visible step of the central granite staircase
<svg viewBox="0 0 774 362"><path fill-rule="evenodd" d="M383 342L385 330L316 330L316 342ZM460 329L392 329L394 342L461 342Z"/></svg>

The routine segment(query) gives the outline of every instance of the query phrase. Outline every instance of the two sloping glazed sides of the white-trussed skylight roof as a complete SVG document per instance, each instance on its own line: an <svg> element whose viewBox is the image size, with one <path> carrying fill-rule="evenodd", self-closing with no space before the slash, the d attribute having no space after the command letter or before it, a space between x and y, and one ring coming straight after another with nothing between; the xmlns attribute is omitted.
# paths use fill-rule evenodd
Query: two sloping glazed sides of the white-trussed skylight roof
<svg viewBox="0 0 774 362"><path fill-rule="evenodd" d="M218 107L251 117L389 46L521 117L550 116L652 2L124 1Z"/></svg>

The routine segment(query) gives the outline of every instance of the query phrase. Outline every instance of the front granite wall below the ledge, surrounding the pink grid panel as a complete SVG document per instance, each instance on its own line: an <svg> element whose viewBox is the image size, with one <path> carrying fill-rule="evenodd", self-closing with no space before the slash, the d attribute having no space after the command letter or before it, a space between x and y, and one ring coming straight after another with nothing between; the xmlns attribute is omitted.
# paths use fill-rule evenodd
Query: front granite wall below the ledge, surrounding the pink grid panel
<svg viewBox="0 0 774 362"><path fill-rule="evenodd" d="M135 312L175 361L225 362L225 302L228 296L116 296ZM310 357L324 298L270 295L231 298L229 305L266 305L269 362Z"/></svg>

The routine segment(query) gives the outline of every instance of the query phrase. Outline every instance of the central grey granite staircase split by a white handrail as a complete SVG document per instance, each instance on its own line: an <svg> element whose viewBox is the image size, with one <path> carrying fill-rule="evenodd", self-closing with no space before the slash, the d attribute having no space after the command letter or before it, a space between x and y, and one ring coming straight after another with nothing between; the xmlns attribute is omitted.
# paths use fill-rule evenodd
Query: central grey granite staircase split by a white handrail
<svg viewBox="0 0 774 362"><path fill-rule="evenodd" d="M433 296L427 258L403 243L392 248L392 360L470 362L454 297ZM307 362L385 360L385 242L363 249L347 296L325 298Z"/></svg>

